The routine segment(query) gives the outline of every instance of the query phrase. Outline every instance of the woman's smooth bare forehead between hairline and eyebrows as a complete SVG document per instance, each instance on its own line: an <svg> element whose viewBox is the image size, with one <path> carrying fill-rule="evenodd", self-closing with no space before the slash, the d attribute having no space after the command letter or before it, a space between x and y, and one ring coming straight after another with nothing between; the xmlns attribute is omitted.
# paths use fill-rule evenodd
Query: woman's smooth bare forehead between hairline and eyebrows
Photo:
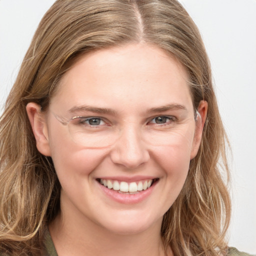
<svg viewBox="0 0 256 256"><path fill-rule="evenodd" d="M54 107L122 108L192 105L188 75L164 50L148 44L100 49L80 56L63 75Z"/></svg>

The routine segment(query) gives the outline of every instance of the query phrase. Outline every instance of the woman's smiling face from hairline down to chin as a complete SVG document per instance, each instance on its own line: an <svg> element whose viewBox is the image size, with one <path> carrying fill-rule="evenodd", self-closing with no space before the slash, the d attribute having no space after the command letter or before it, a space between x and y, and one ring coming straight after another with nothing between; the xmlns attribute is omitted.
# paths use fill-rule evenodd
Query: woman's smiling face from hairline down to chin
<svg viewBox="0 0 256 256"><path fill-rule="evenodd" d="M64 74L35 136L52 157L63 216L116 233L160 228L200 141L187 79L148 44L88 53Z"/></svg>

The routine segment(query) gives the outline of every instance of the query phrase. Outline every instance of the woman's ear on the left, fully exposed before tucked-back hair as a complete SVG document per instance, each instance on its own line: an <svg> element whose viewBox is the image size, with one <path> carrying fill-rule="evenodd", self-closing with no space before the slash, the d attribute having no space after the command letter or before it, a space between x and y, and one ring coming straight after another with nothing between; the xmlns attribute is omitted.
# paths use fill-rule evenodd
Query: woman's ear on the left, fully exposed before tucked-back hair
<svg viewBox="0 0 256 256"><path fill-rule="evenodd" d="M29 102L26 105L26 112L33 130L38 151L43 155L50 156L48 128L45 121L45 114L41 112L40 105L34 102Z"/></svg>

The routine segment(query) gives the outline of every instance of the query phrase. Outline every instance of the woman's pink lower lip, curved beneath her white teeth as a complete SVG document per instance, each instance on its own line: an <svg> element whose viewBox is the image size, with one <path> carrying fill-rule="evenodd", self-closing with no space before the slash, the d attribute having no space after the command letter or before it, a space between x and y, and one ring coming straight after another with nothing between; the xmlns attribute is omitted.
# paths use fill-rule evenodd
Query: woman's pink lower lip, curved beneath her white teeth
<svg viewBox="0 0 256 256"><path fill-rule="evenodd" d="M108 189L107 187L101 185L99 182L97 182L97 183L100 186L100 188L102 189L102 191L111 199L113 199L117 202L123 203L123 204L132 204L132 203L141 202L145 198L147 198L151 194L151 192L154 189L157 182L158 182L158 180L153 182L153 184L146 190L141 190L135 194L122 194L122 193L119 193L117 190Z"/></svg>

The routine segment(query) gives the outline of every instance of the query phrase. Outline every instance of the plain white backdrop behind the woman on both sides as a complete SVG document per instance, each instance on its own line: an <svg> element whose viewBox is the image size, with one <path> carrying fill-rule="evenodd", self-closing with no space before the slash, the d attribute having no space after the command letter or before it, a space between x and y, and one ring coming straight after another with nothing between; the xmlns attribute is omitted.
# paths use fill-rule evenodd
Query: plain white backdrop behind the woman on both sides
<svg viewBox="0 0 256 256"><path fill-rule="evenodd" d="M231 142L229 245L256 253L256 0L180 0L202 34ZM53 0L0 0L0 110Z"/></svg>

